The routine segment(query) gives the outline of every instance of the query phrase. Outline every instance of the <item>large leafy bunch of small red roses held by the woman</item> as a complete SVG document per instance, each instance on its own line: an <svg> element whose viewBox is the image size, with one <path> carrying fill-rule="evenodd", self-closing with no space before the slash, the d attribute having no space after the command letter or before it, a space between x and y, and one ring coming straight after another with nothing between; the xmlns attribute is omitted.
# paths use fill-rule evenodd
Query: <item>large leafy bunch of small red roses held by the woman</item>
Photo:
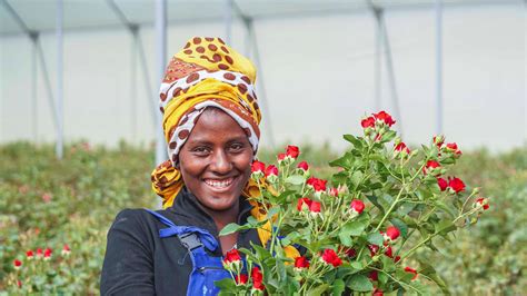
<svg viewBox="0 0 527 296"><path fill-rule="evenodd" d="M448 176L461 156L443 136L410 150L385 111L361 120L362 137L345 135L350 148L330 162L339 171L327 180L296 164L298 147L278 155L278 165L252 165L260 189L252 198L267 216L230 224L220 235L267 229L266 247L233 249L225 258L231 278L216 284L226 295L340 295L347 292L428 294L429 283L448 293L420 248L477 221L488 209L478 188ZM290 256L288 248L298 253ZM246 265L241 264L245 254Z"/></svg>

